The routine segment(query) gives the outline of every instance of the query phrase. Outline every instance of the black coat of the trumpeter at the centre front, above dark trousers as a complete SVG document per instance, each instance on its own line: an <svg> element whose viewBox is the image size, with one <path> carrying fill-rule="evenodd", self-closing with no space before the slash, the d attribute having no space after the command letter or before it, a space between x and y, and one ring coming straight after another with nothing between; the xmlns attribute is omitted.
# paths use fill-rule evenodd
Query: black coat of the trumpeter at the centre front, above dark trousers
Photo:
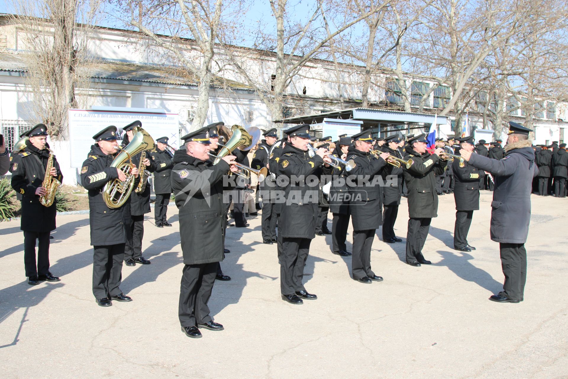
<svg viewBox="0 0 568 379"><path fill-rule="evenodd" d="M272 164L271 164L272 165ZM323 159L319 155L310 157L307 151L302 151L292 145L282 149L278 160L277 176L283 176L290 181L283 192L285 202L278 209L278 235L283 238L314 239L316 219L318 218L319 181L308 185L304 182L308 176L317 177L320 173ZM302 180L294 180L293 176ZM278 213L278 212L277 212Z"/></svg>

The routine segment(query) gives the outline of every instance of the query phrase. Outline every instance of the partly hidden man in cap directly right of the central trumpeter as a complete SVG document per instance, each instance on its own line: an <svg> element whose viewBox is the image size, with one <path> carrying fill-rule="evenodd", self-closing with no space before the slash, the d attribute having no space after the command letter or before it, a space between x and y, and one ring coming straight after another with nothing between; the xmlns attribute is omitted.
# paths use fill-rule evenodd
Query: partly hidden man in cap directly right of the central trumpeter
<svg viewBox="0 0 568 379"><path fill-rule="evenodd" d="M339 142L332 155L347 160L347 152L351 144L350 137L340 137ZM331 167L331 188L329 189L329 210L333 215L331 228L332 252L346 257L351 253L347 251L345 240L347 239L347 229L349 227L349 187L346 183L346 176L343 165Z"/></svg>

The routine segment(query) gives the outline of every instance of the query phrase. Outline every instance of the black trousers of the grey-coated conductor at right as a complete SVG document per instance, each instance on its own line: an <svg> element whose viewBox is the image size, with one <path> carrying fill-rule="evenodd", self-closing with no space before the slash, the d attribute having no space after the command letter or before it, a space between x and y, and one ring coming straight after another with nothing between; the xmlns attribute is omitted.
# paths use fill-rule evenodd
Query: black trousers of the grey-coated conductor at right
<svg viewBox="0 0 568 379"><path fill-rule="evenodd" d="M527 282L527 250L524 243L499 243L501 267L505 276L503 292L508 298L522 300Z"/></svg>

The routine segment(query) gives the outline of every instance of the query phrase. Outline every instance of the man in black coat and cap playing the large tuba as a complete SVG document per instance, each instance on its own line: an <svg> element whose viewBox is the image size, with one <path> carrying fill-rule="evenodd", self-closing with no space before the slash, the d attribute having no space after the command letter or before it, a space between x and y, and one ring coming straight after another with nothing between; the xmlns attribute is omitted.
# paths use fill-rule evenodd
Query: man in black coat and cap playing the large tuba
<svg viewBox="0 0 568 379"><path fill-rule="evenodd" d="M124 247L128 241L128 229L132 223L130 197L116 208L105 202L103 189L115 179L125 182L128 176L138 185L136 165L130 173L111 166L116 153L116 127L109 126L93 136L89 157L81 168L81 184L89 191L89 224L91 245L93 245L93 295L102 307L110 307L111 299L121 302L132 301L120 290Z"/></svg>

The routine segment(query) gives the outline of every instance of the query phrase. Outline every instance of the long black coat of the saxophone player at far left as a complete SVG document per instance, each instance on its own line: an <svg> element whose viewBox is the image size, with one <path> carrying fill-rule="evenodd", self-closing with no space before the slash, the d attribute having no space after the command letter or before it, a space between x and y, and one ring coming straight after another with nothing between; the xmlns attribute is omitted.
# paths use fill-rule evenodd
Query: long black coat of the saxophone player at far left
<svg viewBox="0 0 568 379"><path fill-rule="evenodd" d="M23 151L13 156L10 169L12 188L22 195L20 229L28 232L51 232L56 228L56 201L53 201L51 206L44 207L39 202L39 195L35 194L45 177L49 151L47 149L38 150L30 141L26 144ZM61 182L63 175L55 157L53 157L53 166L57 169L55 178Z"/></svg>

